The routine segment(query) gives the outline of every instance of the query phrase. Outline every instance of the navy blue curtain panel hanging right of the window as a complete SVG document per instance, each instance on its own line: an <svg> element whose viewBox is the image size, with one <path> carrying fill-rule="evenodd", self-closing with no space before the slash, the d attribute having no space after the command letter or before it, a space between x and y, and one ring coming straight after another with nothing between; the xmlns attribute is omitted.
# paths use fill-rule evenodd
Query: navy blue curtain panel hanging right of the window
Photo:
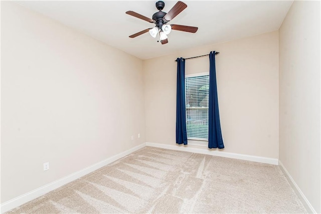
<svg viewBox="0 0 321 214"><path fill-rule="evenodd" d="M217 99L215 51L210 53L209 148L224 148Z"/></svg>

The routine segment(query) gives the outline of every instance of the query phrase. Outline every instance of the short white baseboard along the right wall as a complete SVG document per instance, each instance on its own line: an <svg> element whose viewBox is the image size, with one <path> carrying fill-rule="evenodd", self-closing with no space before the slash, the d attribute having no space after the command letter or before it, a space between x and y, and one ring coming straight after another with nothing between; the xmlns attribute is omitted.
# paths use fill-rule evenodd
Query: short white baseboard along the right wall
<svg viewBox="0 0 321 214"><path fill-rule="evenodd" d="M313 206L310 204L310 202L307 200L299 186L295 183L290 173L286 170L285 166L282 164L282 162L279 160L279 166L281 170L283 171L285 177L289 181L290 185L292 186L292 189L295 191L296 195L300 198L301 202L303 203L304 207L308 211L308 213L316 213Z"/></svg>

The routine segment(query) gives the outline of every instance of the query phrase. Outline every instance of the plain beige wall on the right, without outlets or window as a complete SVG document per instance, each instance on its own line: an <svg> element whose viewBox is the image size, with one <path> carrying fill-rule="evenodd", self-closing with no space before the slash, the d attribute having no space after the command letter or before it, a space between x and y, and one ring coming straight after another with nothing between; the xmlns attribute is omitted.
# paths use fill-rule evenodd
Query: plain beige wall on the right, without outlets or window
<svg viewBox="0 0 321 214"><path fill-rule="evenodd" d="M320 213L319 1L294 1L279 48L279 160Z"/></svg>

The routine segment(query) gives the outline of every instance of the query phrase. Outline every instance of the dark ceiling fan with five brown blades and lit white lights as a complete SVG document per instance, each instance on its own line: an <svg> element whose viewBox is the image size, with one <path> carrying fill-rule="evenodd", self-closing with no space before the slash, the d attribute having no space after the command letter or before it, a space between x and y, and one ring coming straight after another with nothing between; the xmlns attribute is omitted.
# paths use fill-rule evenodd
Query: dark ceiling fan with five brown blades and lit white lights
<svg viewBox="0 0 321 214"><path fill-rule="evenodd" d="M142 16L137 14L133 11L127 11L126 14L136 17L138 19L147 21L149 23L153 23L156 26L154 28L147 28L143 31L140 31L136 34L130 35L130 38L135 38L139 35L149 32L150 36L155 38L159 33L159 41L161 41L162 45L167 44L168 41L168 34L171 33L171 30L176 31L185 31L190 33L196 33L198 28L192 26L184 26L184 25L168 25L168 23L173 20L177 15L179 15L184 9L187 8L187 5L183 2L177 2L176 5L168 12L165 13L162 10L164 9L165 3L163 1L156 2L156 8L158 12L152 15L152 19L148 17ZM157 41L158 42L158 41Z"/></svg>

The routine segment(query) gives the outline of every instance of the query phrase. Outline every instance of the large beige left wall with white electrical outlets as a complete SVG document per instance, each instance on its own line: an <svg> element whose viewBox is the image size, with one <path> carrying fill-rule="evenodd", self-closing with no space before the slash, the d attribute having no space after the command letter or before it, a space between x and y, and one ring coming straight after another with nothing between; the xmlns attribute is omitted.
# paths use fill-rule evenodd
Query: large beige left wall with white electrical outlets
<svg viewBox="0 0 321 214"><path fill-rule="evenodd" d="M1 202L145 142L142 60L1 4Z"/></svg>

